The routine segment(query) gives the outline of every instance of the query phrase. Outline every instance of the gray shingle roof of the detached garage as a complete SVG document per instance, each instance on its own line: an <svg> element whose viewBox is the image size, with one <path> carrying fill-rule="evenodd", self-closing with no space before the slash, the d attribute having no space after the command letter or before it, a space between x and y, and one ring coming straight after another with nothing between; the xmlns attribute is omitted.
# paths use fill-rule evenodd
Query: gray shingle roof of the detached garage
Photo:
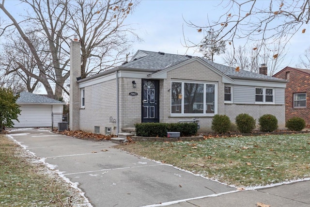
<svg viewBox="0 0 310 207"><path fill-rule="evenodd" d="M37 94L32 94L29 92L19 93L19 98L17 98L16 103L35 103L35 104L65 104L62 101L58 101L46 96L41 96Z"/></svg>

